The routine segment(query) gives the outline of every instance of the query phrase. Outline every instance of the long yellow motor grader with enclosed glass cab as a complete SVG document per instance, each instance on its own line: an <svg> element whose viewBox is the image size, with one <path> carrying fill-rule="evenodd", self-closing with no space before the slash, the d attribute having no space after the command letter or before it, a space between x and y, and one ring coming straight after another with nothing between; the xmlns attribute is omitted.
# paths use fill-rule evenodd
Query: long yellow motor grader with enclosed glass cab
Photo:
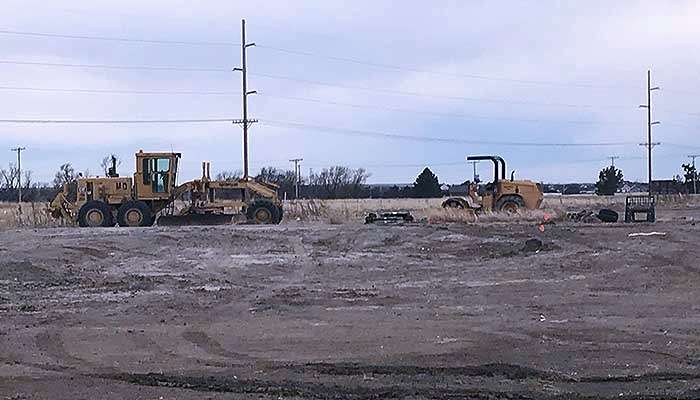
<svg viewBox="0 0 700 400"><path fill-rule="evenodd" d="M282 220L277 185L211 180L207 162L202 163L201 179L177 185L180 157L139 151L133 179L119 177L113 158L106 177L80 177L73 190L64 185L51 202L51 214L82 227L151 226L156 220L158 225L211 225L231 223L236 214L257 224Z"/></svg>

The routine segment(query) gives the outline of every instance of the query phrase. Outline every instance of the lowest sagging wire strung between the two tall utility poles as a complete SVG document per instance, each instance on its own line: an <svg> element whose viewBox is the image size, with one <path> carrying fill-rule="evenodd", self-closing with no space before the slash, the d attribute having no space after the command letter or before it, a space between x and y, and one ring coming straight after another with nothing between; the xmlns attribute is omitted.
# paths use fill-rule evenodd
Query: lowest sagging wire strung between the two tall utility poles
<svg viewBox="0 0 700 400"><path fill-rule="evenodd" d="M537 142L499 142L499 141L481 141L456 138L441 138L428 136L413 136L403 135L388 132L364 131L357 129L344 129L337 127L328 127L320 125L311 125L300 122L275 121L265 120L263 125L287 127L295 129L310 129L326 133L338 133L351 136L366 136L366 137L382 137L388 139L411 140L419 142L437 142L437 143L462 143L475 145L494 145L494 146L524 146L524 147L605 147L605 146L628 146L636 145L634 142L608 142L608 143L537 143Z"/></svg>

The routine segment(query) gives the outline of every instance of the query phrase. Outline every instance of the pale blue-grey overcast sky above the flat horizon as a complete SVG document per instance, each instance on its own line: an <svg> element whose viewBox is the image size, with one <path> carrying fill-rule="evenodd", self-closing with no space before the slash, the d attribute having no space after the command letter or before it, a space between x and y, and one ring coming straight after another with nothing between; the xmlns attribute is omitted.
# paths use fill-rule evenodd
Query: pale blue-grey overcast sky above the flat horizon
<svg viewBox="0 0 700 400"><path fill-rule="evenodd" d="M614 155L626 178L646 180L638 145L646 141L646 111L638 106L646 103L649 68L661 87L653 94L661 121L654 141L662 143L654 150L655 177L679 174L686 156L700 153L698 1L2 4L3 62L207 71L0 62L0 119L238 118L240 74L231 69L240 64L245 18L248 40L258 45L248 52L249 90L259 92L249 101L249 116L260 120L250 130L253 171L290 168L288 160L300 157L304 174L340 164L366 167L374 183L412 182L429 166L441 182L454 183L471 177L466 155L499 154L518 177L594 181ZM182 93L192 91L198 93ZM131 173L138 149L182 152L181 180L196 177L202 160L214 171L242 165L241 129L227 122L0 129L0 146L8 149L0 163L14 160L11 147L26 146L24 167L41 181L67 161L98 173L112 152L124 160L122 174ZM490 166L479 169L490 178Z"/></svg>

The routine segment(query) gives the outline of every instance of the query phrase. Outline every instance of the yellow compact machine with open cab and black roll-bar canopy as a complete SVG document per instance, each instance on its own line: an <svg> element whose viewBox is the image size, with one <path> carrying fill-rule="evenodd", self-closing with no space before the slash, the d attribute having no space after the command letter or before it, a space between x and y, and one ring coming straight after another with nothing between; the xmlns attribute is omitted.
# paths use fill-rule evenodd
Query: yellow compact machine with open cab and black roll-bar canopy
<svg viewBox="0 0 700 400"><path fill-rule="evenodd" d="M515 180L515 171L510 180L506 180L506 162L499 156L469 156L467 161L492 161L494 165L493 182L479 186L472 182L466 197L450 197L442 203L445 208L471 209L480 211L502 211L516 213L522 210L534 210L542 204L542 187L529 180Z"/></svg>

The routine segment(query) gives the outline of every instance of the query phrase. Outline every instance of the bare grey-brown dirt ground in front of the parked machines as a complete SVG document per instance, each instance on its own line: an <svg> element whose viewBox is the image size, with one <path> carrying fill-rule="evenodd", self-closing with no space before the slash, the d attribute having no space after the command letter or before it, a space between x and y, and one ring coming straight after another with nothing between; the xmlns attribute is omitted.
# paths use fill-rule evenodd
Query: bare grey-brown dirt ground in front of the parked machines
<svg viewBox="0 0 700 400"><path fill-rule="evenodd" d="M659 214L3 231L0 398L699 398L698 210Z"/></svg>

